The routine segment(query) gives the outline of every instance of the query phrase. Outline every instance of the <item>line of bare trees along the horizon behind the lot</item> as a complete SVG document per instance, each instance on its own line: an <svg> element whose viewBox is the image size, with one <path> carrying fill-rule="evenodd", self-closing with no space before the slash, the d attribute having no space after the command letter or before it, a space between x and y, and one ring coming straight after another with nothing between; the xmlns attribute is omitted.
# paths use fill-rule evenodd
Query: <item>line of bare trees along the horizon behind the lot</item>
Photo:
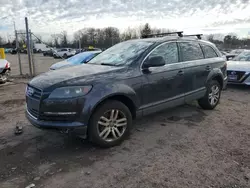
<svg viewBox="0 0 250 188"><path fill-rule="evenodd" d="M48 46L56 48L79 48L79 46L81 46L81 48L88 46L108 48L116 43L140 38L143 35L173 31L174 30L165 28L152 28L148 23L146 23L138 27L129 27L123 32L115 27L84 28L74 33L73 40L69 39L68 33L66 31L51 35L50 39L47 41L43 41L41 36L36 36L33 38L33 40L34 42L43 42ZM219 37L218 34L210 34L204 38L216 44L220 49L250 48L250 39L240 39L236 34L233 33L226 36L220 35ZM0 36L0 46L15 47L15 44L15 40L5 41L3 37ZM19 44L20 46L25 44L25 35L19 37Z"/></svg>

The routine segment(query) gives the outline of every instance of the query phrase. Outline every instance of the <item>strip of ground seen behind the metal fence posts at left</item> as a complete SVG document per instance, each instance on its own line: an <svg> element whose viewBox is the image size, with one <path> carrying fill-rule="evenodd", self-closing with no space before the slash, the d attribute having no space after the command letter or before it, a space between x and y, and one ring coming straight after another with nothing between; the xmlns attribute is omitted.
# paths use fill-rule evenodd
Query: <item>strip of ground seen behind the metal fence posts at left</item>
<svg viewBox="0 0 250 188"><path fill-rule="evenodd" d="M21 67L23 75L29 74L29 61L27 54L21 55ZM20 75L18 55L6 54L6 59L11 63L11 75ZM54 59L53 57L44 57L43 54L34 54L32 56L35 65L35 75L46 72L49 70L50 66L56 62L62 61L62 59Z"/></svg>

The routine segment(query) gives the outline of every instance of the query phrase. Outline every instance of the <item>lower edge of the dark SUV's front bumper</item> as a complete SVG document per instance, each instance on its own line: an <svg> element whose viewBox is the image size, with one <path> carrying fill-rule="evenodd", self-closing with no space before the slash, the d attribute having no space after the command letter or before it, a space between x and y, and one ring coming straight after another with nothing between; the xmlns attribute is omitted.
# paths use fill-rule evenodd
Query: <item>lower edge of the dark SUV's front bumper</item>
<svg viewBox="0 0 250 188"><path fill-rule="evenodd" d="M39 128L39 129L50 129L50 130L57 130L57 131L71 131L79 135L86 135L87 134L87 126L84 125L82 122L65 122L65 121L43 121L38 120L34 116L32 116L28 110L26 110L26 118L29 122Z"/></svg>

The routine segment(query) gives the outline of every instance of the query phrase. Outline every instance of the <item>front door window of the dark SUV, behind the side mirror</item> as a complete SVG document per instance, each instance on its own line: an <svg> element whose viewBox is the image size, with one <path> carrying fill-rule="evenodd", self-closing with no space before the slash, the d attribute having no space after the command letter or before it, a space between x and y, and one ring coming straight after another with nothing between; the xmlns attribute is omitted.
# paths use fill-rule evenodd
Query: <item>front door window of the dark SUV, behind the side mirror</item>
<svg viewBox="0 0 250 188"><path fill-rule="evenodd" d="M148 59L162 56L165 59L166 64L172 64L178 62L178 48L175 42L163 44L156 49L148 56Z"/></svg>

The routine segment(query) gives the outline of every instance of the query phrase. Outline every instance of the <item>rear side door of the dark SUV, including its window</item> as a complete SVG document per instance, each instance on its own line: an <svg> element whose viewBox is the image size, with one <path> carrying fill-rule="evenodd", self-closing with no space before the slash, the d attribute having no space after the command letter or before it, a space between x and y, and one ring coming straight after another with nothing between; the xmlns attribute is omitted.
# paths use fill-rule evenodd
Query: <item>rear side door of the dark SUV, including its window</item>
<svg viewBox="0 0 250 188"><path fill-rule="evenodd" d="M205 83L211 70L210 61L204 58L201 46L196 41L178 42L180 57L185 72L186 101L201 97L205 93Z"/></svg>

